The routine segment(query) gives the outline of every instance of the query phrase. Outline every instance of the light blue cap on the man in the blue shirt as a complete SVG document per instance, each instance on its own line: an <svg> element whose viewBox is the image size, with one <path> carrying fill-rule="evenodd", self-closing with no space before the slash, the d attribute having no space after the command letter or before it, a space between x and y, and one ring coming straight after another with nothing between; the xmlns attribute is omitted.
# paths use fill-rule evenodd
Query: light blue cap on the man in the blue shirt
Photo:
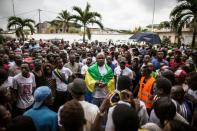
<svg viewBox="0 0 197 131"><path fill-rule="evenodd" d="M48 86L40 86L34 92L35 103L33 108L39 108L48 96L51 95L51 89Z"/></svg>

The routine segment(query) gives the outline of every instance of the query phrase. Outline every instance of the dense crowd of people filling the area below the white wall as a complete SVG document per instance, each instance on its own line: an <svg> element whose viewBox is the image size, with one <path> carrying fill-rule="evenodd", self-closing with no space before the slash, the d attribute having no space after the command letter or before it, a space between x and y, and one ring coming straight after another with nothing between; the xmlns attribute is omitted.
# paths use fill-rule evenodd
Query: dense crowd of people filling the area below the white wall
<svg viewBox="0 0 197 131"><path fill-rule="evenodd" d="M16 41L0 47L0 131L195 131L197 50Z"/></svg>

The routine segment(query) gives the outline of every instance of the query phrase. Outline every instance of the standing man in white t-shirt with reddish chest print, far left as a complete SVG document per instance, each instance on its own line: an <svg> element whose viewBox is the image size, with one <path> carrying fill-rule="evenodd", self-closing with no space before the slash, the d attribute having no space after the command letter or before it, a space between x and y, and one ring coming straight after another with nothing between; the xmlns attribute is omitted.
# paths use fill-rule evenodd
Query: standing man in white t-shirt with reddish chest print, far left
<svg viewBox="0 0 197 131"><path fill-rule="evenodd" d="M16 115L22 115L34 103L33 91L36 87L35 76L29 72L28 63L21 65L21 73L13 78L13 90L16 95Z"/></svg>

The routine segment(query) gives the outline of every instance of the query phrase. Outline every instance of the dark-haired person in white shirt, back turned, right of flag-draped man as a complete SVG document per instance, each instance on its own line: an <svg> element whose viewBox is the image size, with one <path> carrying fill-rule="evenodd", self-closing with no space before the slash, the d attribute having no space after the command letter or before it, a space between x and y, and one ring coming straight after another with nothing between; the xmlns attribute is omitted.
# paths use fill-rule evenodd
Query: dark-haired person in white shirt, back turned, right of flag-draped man
<svg viewBox="0 0 197 131"><path fill-rule="evenodd" d="M120 100L115 104L114 106L110 107L108 110L108 117L107 117L107 123L105 131L115 131L115 123L113 121L113 112L117 105L126 105L129 108L134 108L136 110L136 115L139 118L139 125L144 125L148 122L148 113L146 111L145 104L137 99L133 99L129 102L129 99L131 99L132 94L130 93L130 86L131 86L131 79L127 76L120 76L117 82L117 89L120 91L121 97ZM130 94L129 98L128 95ZM133 101L133 104L132 104Z"/></svg>

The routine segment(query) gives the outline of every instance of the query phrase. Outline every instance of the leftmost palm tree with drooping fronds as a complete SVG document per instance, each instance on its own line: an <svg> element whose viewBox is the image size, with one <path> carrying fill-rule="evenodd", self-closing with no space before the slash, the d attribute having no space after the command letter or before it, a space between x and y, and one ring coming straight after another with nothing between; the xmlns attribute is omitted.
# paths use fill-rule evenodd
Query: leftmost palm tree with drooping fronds
<svg viewBox="0 0 197 131"><path fill-rule="evenodd" d="M22 19L20 17L11 16L8 18L8 30L13 29L15 27L15 33L17 37L21 37L22 40L25 40L25 31L27 29L30 30L31 34L34 33L34 25L35 21L32 19Z"/></svg>

